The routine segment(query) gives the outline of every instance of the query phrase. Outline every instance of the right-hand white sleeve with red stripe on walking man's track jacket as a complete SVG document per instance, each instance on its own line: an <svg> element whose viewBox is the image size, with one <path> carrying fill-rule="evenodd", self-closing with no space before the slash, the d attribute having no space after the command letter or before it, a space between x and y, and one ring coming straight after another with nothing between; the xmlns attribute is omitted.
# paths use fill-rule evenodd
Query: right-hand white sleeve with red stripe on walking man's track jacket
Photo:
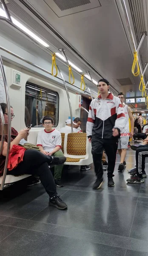
<svg viewBox="0 0 148 256"><path fill-rule="evenodd" d="M125 126L125 113L124 108L122 107L121 101L118 97L117 98L117 106L116 106L116 113L117 113L117 119L115 121L115 128L119 128L120 132L122 132L122 129Z"/></svg>

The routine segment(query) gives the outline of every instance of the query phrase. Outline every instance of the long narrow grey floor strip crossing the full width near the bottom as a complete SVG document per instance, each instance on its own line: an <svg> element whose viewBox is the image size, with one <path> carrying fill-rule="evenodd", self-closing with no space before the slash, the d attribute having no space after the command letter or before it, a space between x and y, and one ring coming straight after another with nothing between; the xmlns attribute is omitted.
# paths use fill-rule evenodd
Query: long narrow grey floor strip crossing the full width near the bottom
<svg viewBox="0 0 148 256"><path fill-rule="evenodd" d="M110 245L129 250L148 252L148 242L129 237L115 236L111 234L82 230L74 227L64 227L55 224L24 220L19 218L0 216L0 225L12 225L17 228L40 231L43 233L64 236L71 239L94 242L97 244Z"/></svg>

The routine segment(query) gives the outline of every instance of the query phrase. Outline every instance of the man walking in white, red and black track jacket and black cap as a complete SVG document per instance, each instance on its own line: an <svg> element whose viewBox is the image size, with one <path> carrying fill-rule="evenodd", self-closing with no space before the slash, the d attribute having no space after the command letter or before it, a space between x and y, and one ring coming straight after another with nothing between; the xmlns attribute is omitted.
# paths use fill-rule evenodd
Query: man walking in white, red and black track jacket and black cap
<svg viewBox="0 0 148 256"><path fill-rule="evenodd" d="M100 95L91 101L86 124L86 133L92 144L94 169L97 176L94 189L99 189L104 182L102 177L103 149L108 157L108 186L114 186L113 172L118 138L125 123L125 113L120 99L108 93L109 82L106 79L100 79L98 89Z"/></svg>

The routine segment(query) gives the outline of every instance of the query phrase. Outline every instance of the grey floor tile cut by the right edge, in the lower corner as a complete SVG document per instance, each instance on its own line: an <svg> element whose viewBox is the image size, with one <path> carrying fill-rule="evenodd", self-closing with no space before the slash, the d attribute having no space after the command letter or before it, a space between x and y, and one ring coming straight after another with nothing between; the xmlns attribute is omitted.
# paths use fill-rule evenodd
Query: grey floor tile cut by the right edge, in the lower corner
<svg viewBox="0 0 148 256"><path fill-rule="evenodd" d="M148 198L138 198L130 237L148 241Z"/></svg>

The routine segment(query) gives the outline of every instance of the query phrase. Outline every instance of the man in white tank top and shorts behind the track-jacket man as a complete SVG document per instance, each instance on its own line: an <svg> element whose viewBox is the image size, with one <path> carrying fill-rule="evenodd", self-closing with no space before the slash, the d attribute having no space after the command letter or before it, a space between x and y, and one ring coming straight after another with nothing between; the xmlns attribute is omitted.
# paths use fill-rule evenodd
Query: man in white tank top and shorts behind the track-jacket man
<svg viewBox="0 0 148 256"><path fill-rule="evenodd" d="M126 149L128 148L129 136L133 137L134 135L134 118L132 116L131 109L124 103L124 100L125 100L124 94L118 93L118 98L120 98L122 107L124 108L124 112L125 112L125 125L118 142L118 152L121 157L118 170L122 172L122 170L124 169L124 166L126 165L125 156L126 156ZM129 119L131 121L131 133L129 131Z"/></svg>

